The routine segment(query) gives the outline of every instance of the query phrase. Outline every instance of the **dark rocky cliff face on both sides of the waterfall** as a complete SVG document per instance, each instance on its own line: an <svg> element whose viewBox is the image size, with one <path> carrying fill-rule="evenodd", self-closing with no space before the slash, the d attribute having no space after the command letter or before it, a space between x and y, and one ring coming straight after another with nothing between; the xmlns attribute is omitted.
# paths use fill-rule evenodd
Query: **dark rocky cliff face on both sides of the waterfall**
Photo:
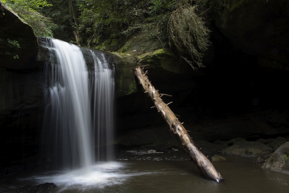
<svg viewBox="0 0 289 193"><path fill-rule="evenodd" d="M149 36L135 34L120 50L123 53L107 53L116 68L115 144L179 145L160 115L150 109L153 104L134 77L136 65L148 71L160 93L173 95L164 101L173 101L170 107L194 140L288 134L288 3L242 2L212 13L212 45L204 55L206 68L197 72L171 49L158 45L154 31ZM3 4L0 10L0 161L4 165L22 158L23 150L25 156L37 154L43 116L40 69L49 57L45 39L39 37L37 59L31 62L38 50L31 27Z"/></svg>

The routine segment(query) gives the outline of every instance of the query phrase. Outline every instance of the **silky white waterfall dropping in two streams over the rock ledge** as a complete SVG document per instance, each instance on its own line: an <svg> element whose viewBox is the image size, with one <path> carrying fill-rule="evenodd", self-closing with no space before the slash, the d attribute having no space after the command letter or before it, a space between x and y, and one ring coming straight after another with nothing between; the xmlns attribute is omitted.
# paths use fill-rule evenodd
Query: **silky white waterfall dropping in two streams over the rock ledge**
<svg viewBox="0 0 289 193"><path fill-rule="evenodd" d="M47 39L51 61L45 73L45 156L62 168L88 167L112 157L114 66L91 50L87 69L80 47Z"/></svg>

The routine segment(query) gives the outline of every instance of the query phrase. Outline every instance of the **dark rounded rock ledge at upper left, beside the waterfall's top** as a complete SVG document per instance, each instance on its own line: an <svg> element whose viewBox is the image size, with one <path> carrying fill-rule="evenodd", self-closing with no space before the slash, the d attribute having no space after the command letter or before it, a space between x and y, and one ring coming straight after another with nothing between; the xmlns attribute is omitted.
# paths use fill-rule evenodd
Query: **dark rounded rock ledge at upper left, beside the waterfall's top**
<svg viewBox="0 0 289 193"><path fill-rule="evenodd" d="M0 67L39 70L34 62L37 52L32 27L0 1Z"/></svg>

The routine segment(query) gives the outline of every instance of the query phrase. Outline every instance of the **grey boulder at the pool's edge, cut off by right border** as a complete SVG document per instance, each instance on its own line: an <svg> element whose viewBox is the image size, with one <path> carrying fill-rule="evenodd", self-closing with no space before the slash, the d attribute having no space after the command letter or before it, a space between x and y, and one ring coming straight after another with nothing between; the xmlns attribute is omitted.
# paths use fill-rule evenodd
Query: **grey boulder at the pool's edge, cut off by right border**
<svg viewBox="0 0 289 193"><path fill-rule="evenodd" d="M277 148L261 167L289 175L289 142Z"/></svg>

